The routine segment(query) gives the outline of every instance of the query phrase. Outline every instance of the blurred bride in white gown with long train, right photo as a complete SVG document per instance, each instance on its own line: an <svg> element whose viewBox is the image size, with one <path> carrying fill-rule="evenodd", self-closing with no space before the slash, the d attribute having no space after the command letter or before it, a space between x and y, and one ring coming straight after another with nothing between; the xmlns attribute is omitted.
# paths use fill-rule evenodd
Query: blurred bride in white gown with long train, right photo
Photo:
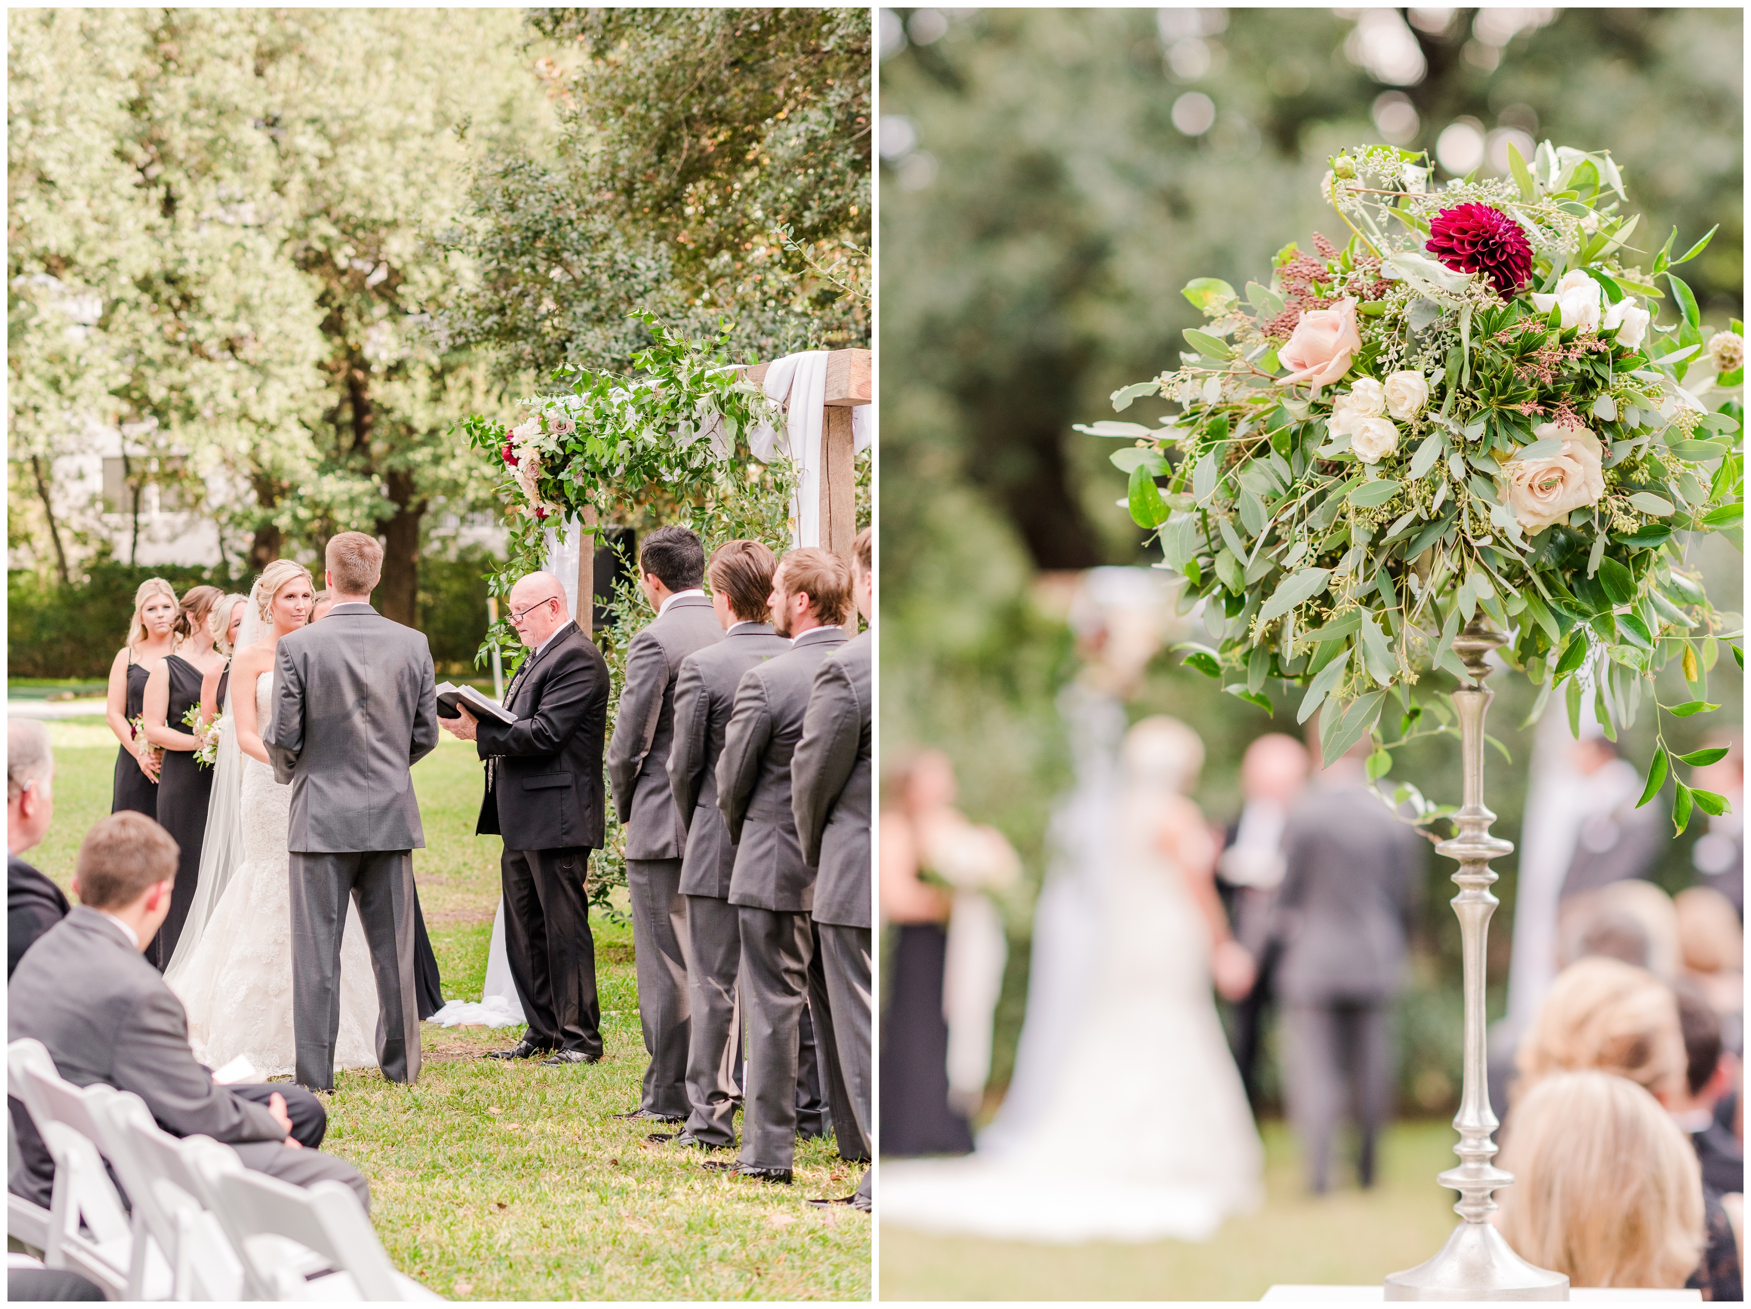
<svg viewBox="0 0 1751 1309"><path fill-rule="evenodd" d="M1098 821L1077 824L1086 844L1068 889L1093 947L1079 952L1077 1003L1037 1013L1030 996L1023 1043L1044 1038L1051 1060L1017 1062L975 1153L883 1164L883 1222L1014 1241L1201 1241L1262 1199L1264 1150L1212 999L1213 964L1234 987L1250 964L1220 926L1215 845L1184 796L1203 746L1154 718L1131 728L1122 758Z"/></svg>

